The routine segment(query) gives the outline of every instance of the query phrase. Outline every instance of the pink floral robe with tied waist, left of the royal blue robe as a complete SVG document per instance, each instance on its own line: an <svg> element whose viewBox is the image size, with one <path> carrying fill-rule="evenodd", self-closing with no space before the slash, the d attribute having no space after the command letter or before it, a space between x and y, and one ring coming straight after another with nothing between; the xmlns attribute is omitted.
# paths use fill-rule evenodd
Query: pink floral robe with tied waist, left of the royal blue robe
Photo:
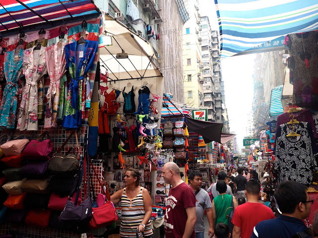
<svg viewBox="0 0 318 238"><path fill-rule="evenodd" d="M66 71L65 45L64 43L61 46L55 44L46 48L45 59L50 76L50 86L46 94L48 102L45 111L44 128L55 127L57 125L60 82Z"/></svg>

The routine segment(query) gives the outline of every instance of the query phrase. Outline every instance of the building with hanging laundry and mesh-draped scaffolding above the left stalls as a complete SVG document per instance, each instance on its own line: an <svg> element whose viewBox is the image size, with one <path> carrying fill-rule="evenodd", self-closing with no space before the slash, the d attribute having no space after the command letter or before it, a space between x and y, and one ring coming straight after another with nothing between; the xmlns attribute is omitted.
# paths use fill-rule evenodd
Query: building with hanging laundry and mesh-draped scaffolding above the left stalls
<svg viewBox="0 0 318 238"><path fill-rule="evenodd" d="M139 12L137 19L127 16L127 3L133 3L132 12ZM139 34L154 48L154 62L164 75L164 92L173 95L179 102L183 97L182 29L189 19L183 1L175 0L94 0L102 10L108 12L132 31ZM121 12L121 17L118 17ZM150 25L159 39L147 35Z"/></svg>

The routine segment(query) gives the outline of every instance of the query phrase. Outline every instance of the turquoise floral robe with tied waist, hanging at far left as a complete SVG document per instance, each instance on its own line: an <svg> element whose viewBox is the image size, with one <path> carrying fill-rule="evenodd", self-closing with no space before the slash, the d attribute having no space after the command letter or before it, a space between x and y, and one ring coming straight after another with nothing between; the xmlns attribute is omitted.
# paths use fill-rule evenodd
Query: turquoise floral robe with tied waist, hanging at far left
<svg viewBox="0 0 318 238"><path fill-rule="evenodd" d="M18 54L10 51L4 54L4 76L6 85L0 106L0 126L13 129L17 109L18 81L22 75L23 50Z"/></svg>

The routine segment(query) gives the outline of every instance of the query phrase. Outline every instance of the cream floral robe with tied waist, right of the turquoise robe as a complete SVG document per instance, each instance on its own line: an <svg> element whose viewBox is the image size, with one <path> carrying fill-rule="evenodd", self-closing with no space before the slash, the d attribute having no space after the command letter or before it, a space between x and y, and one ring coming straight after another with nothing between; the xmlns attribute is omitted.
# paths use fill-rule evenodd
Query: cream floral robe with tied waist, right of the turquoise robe
<svg viewBox="0 0 318 238"><path fill-rule="evenodd" d="M38 130L38 89L37 83L46 74L45 47L34 50L35 47L27 49L23 53L23 74L25 75L25 86L21 105L19 108L19 119L17 129Z"/></svg>

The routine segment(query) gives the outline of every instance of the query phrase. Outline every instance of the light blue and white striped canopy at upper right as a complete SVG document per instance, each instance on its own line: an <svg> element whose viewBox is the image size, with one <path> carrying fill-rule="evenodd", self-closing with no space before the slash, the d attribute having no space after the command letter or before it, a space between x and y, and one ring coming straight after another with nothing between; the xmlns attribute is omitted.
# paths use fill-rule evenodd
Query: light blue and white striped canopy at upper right
<svg viewBox="0 0 318 238"><path fill-rule="evenodd" d="M290 33L318 29L318 0L215 0L220 59Z"/></svg>

